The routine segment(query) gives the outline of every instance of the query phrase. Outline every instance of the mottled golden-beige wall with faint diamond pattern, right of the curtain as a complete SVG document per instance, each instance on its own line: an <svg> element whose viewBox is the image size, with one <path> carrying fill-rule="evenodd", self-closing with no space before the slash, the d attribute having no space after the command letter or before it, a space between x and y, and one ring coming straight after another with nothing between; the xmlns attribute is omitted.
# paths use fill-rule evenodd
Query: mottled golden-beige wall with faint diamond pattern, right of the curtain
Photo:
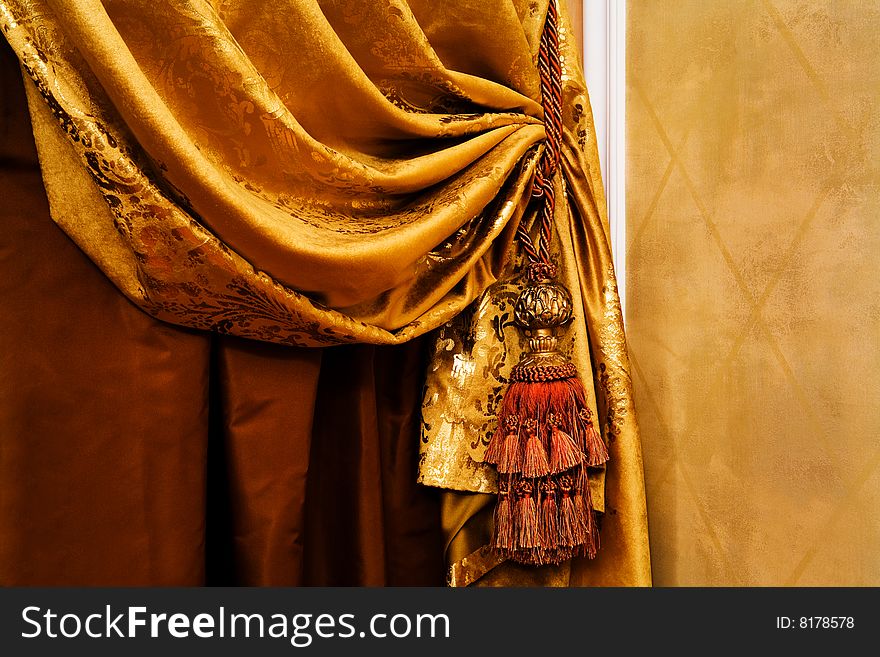
<svg viewBox="0 0 880 657"><path fill-rule="evenodd" d="M880 3L630 0L658 585L880 585Z"/></svg>

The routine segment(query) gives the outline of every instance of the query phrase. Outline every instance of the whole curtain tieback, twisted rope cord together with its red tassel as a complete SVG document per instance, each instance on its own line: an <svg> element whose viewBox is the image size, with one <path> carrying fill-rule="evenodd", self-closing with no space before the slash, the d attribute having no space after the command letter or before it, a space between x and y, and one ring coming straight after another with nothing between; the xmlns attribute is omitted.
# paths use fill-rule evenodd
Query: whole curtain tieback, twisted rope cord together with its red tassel
<svg viewBox="0 0 880 657"><path fill-rule="evenodd" d="M550 256L563 129L556 2L547 8L538 52L546 139L532 197L541 204L540 222L535 239L522 224L517 229L529 265L514 318L528 338L528 353L511 371L485 455L498 470L492 545L508 559L538 565L596 555L599 531L587 467L608 460L577 368L558 350L572 300L553 282L558 269Z"/></svg>

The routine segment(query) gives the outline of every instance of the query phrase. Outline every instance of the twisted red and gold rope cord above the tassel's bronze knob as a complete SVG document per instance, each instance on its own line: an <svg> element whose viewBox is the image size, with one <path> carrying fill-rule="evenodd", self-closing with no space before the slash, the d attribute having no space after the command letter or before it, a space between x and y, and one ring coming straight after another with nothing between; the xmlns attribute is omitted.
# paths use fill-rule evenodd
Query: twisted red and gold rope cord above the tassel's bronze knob
<svg viewBox="0 0 880 657"><path fill-rule="evenodd" d="M553 278L556 273L556 267L550 260L550 240L556 210L553 177L559 167L559 146L562 141L562 63L559 60L558 18L556 0L550 0L538 49L541 104L544 107L544 130L547 135L532 185L532 197L544 200L538 243L535 244L522 224L517 230L517 237L529 260L528 271L532 279Z"/></svg>

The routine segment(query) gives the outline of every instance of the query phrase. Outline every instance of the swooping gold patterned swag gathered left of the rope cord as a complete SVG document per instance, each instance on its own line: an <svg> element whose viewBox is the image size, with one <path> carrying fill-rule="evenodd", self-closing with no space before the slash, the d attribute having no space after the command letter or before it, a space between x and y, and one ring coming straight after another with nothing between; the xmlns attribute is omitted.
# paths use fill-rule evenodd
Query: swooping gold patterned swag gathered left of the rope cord
<svg viewBox="0 0 880 657"><path fill-rule="evenodd" d="M443 33L519 16L414 6ZM448 70L406 3L253 7L0 3L35 82L53 218L135 303L187 326L389 344L452 318L496 280L544 135L523 36L540 23L495 44L501 84Z"/></svg>

